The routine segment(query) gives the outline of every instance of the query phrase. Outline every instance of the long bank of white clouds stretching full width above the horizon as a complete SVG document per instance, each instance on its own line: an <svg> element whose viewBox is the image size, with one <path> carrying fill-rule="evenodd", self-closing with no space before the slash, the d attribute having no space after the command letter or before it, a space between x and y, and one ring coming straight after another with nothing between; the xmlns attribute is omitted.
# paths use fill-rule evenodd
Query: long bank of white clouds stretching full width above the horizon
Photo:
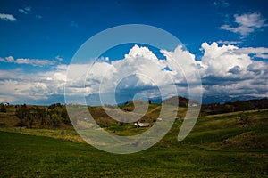
<svg viewBox="0 0 268 178"><path fill-rule="evenodd" d="M96 61L89 70L89 64L57 63L53 64L51 70L38 73L2 69L0 101L46 101L54 95L63 96L67 79L71 84L65 91L67 94L73 97L79 93L95 96L100 91L106 102L113 101L109 97L114 94L114 90L115 93L119 91L125 94L126 98L123 99L138 92L154 98L159 94L157 86L163 86L168 91L171 83L183 95L188 92L187 79L190 84L196 82L197 77L191 72L195 66L202 79L204 95L268 97L268 48L239 48L230 44L220 46L214 42L203 43L201 49L204 54L200 61L196 61L196 56L181 46L172 52L161 50L165 59L158 59L147 47L135 45L123 59ZM7 57L0 61L20 64L23 60ZM48 63L31 60L23 62L33 66ZM73 72L67 78L68 68L79 72Z"/></svg>

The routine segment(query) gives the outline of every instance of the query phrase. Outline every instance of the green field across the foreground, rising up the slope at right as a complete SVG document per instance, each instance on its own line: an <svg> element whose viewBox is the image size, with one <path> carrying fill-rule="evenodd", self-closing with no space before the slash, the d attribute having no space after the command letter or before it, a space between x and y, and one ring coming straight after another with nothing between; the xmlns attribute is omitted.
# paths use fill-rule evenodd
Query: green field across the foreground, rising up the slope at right
<svg viewBox="0 0 268 178"><path fill-rule="evenodd" d="M0 130L2 177L268 177L268 111L199 117L182 142L181 120L152 148L129 155L96 150L73 130ZM137 132L130 125L107 130ZM42 136L43 135L43 136Z"/></svg>

